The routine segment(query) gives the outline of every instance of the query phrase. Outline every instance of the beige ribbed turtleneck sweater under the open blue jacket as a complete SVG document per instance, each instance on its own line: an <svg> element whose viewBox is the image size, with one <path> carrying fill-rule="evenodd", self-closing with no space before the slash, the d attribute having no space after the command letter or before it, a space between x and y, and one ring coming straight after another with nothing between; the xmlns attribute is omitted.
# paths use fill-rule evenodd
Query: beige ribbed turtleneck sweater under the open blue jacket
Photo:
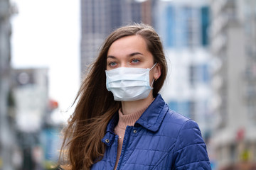
<svg viewBox="0 0 256 170"><path fill-rule="evenodd" d="M153 99L154 101L154 99ZM122 151L122 143L124 141L124 132L127 126L133 126L136 121L139 119L139 117L146 111L146 108L149 107L149 105L153 102L147 103L146 107L140 109L139 111L129 114L129 115L124 115L122 113L122 108L119 108L119 121L117 123L117 126L114 128L114 133L118 135L118 147L117 147L117 160L114 165L114 170L117 169L117 164L119 161L119 157L121 155Z"/></svg>

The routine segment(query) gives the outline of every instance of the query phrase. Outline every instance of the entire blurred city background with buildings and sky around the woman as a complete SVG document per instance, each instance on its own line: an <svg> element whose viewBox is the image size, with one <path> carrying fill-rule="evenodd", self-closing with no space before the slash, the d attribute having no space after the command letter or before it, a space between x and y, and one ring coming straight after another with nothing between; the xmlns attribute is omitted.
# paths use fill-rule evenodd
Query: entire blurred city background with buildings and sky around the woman
<svg viewBox="0 0 256 170"><path fill-rule="evenodd" d="M140 22L164 44L161 95L196 120L212 169L256 169L255 0L0 0L0 170L56 169L87 67Z"/></svg>

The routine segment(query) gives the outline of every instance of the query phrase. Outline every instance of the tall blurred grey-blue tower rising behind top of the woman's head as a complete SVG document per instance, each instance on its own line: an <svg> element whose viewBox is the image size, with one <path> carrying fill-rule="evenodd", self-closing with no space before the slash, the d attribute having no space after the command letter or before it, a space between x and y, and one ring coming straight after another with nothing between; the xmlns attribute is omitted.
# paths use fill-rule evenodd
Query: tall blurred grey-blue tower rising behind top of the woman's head
<svg viewBox="0 0 256 170"><path fill-rule="evenodd" d="M95 60L112 30L129 23L151 24L152 1L81 0L81 72Z"/></svg>

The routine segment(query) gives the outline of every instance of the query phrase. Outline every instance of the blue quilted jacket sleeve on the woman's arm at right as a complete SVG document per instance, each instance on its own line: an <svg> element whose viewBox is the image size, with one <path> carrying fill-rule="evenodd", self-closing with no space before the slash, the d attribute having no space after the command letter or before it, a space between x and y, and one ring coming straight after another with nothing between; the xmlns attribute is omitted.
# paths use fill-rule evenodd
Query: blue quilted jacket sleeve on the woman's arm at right
<svg viewBox="0 0 256 170"><path fill-rule="evenodd" d="M174 147L175 170L208 170L210 162L206 144L201 136L198 124L193 120L184 123Z"/></svg>

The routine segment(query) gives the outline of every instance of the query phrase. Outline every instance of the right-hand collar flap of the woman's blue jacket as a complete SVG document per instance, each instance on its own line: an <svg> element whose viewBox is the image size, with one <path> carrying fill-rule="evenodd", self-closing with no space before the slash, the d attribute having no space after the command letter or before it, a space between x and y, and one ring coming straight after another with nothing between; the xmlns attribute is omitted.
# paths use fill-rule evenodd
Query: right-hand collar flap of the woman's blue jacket
<svg viewBox="0 0 256 170"><path fill-rule="evenodd" d="M135 123L135 127L139 124L144 128L156 132L159 130L159 127L166 115L169 107L165 103L164 99L160 94L156 96L151 105L146 108L146 111L142 114L142 116Z"/></svg>

